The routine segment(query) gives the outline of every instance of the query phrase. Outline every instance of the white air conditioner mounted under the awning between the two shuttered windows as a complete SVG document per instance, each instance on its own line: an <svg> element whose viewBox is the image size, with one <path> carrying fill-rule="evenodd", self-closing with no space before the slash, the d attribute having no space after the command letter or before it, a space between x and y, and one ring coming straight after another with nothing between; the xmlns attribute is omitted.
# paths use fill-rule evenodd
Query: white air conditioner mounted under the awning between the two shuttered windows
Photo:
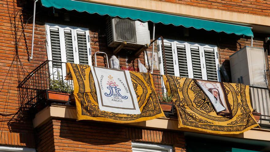
<svg viewBox="0 0 270 152"><path fill-rule="evenodd" d="M133 21L128 18L107 18L106 32L109 47L117 47L123 41L128 49L138 49L150 44L150 34L147 22Z"/></svg>

